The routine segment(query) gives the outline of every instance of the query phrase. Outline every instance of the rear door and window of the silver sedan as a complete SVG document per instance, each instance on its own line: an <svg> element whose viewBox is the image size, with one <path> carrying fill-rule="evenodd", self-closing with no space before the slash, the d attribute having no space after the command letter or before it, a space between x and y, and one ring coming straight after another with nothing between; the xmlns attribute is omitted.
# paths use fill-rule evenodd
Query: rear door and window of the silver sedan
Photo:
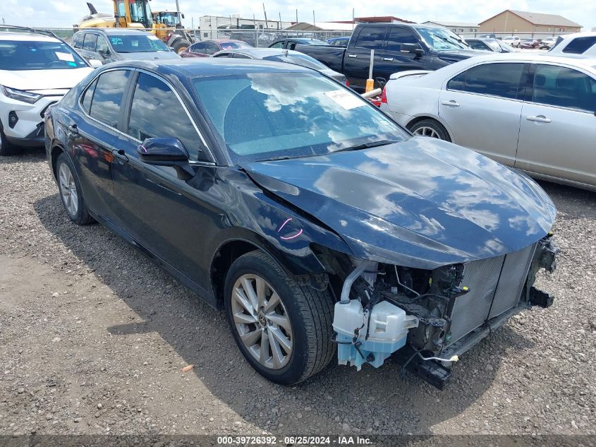
<svg viewBox="0 0 596 447"><path fill-rule="evenodd" d="M513 166L528 68L523 62L488 62L446 81L439 117L453 142Z"/></svg>

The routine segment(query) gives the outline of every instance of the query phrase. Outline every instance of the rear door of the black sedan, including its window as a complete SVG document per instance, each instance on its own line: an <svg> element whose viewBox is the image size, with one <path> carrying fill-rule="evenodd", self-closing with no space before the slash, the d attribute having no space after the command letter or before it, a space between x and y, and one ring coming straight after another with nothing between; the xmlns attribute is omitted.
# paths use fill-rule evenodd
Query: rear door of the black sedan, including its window
<svg viewBox="0 0 596 447"><path fill-rule="evenodd" d="M121 134L120 114L130 70L104 71L80 97L65 126L68 148L78 162L79 178L90 209L116 222L111 179L114 142Z"/></svg>

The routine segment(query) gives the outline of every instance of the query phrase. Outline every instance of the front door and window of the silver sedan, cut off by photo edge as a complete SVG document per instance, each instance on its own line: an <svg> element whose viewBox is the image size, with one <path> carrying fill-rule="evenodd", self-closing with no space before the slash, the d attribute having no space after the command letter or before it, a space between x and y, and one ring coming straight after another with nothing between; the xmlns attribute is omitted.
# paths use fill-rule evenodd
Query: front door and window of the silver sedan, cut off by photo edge
<svg viewBox="0 0 596 447"><path fill-rule="evenodd" d="M523 104L516 167L596 186L596 79L537 64Z"/></svg>

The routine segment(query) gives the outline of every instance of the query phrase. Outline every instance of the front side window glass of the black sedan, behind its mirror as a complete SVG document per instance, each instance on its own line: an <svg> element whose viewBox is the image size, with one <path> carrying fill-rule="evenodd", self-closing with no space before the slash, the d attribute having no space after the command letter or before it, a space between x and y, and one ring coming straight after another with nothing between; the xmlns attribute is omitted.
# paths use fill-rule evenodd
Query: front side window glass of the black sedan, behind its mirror
<svg viewBox="0 0 596 447"><path fill-rule="evenodd" d="M167 119L164 119L165 111ZM201 145L193 122L178 97L164 81L147 73L139 73L130 107L128 135L139 141L154 137L176 137L193 160L197 160Z"/></svg>

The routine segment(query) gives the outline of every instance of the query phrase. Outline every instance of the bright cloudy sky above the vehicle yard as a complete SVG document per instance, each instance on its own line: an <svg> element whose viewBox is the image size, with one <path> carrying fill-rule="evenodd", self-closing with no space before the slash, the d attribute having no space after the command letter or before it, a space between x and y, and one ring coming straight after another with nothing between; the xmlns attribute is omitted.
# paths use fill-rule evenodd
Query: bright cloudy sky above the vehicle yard
<svg viewBox="0 0 596 447"><path fill-rule="evenodd" d="M6 24L48 28L71 28L80 18L87 15L87 0L0 0L0 20ZM90 0L99 12L114 11L111 0ZM190 28L191 18L198 23L200 16L230 16L263 18L262 0L179 0L185 13L184 25ZM396 16L414 22L426 20L458 21L479 23L503 11L516 9L537 13L559 14L580 25L584 31L596 27L595 0L418 0L395 1L376 0L374 6L366 8L361 0L265 0L267 18L281 20L312 21L315 10L317 21L350 20L352 8L355 16ZM176 9L175 0L152 0L153 11Z"/></svg>

